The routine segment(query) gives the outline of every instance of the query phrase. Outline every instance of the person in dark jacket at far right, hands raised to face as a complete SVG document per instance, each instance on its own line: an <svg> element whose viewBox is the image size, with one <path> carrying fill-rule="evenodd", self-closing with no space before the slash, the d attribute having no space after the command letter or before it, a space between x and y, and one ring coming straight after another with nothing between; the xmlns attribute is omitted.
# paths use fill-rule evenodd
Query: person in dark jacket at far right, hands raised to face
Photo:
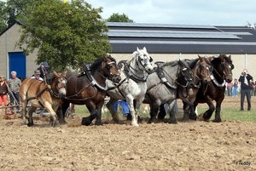
<svg viewBox="0 0 256 171"><path fill-rule="evenodd" d="M247 69L244 69L241 72L241 76L238 79L238 82L241 83L241 108L240 111L243 111L244 98L247 96L247 111L251 111L251 82L253 77L248 74Z"/></svg>

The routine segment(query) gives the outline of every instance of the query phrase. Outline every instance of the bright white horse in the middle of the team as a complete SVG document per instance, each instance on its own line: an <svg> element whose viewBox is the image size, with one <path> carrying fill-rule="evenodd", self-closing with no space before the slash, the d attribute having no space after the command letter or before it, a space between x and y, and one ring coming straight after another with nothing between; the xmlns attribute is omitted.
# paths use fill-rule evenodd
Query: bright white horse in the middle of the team
<svg viewBox="0 0 256 171"><path fill-rule="evenodd" d="M137 48L131 59L125 62L124 70L120 73L119 84L113 85L111 81L108 81L107 94L110 96L110 100L107 107L115 122L119 122L119 117L117 111L113 109L113 104L117 100L126 100L131 113L131 125L138 126L138 112L147 91L146 79L148 73L154 69L151 61L152 58L148 55L145 47Z"/></svg>

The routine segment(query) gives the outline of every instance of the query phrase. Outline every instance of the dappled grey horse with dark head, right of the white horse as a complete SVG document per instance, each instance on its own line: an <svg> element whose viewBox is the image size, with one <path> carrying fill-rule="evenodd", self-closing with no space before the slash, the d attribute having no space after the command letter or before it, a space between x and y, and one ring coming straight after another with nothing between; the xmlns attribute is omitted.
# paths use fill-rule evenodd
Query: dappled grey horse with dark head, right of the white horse
<svg viewBox="0 0 256 171"><path fill-rule="evenodd" d="M156 122L156 115L160 105L168 104L170 113L177 98L177 87L186 90L192 81L192 71L184 60L173 60L171 62L156 62L157 68L147 79L147 93L143 103L150 106L150 119L148 123ZM185 91L187 94L187 91ZM170 114L171 116L171 114ZM170 117L169 123L173 123Z"/></svg>

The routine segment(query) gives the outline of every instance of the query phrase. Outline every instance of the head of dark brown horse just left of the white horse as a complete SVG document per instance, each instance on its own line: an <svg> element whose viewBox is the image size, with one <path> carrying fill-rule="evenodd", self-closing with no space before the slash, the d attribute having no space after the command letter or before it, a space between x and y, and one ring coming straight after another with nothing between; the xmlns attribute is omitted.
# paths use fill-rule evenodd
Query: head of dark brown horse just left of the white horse
<svg viewBox="0 0 256 171"><path fill-rule="evenodd" d="M109 55L108 57L104 57L102 65L102 68L104 68L104 76L112 80L113 83L119 83L121 77L119 73L119 66L117 66L116 61Z"/></svg>

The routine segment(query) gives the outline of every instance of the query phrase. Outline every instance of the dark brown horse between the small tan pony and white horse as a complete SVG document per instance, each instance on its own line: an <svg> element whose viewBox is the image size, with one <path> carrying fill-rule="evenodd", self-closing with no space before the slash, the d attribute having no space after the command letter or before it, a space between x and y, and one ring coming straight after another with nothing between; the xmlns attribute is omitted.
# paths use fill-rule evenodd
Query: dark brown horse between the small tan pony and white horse
<svg viewBox="0 0 256 171"><path fill-rule="evenodd" d="M86 105L89 117L84 117L83 125L90 125L96 118L96 125L102 125L102 105L108 89L107 79L119 83L121 77L119 67L111 56L102 57L93 64L87 65L82 74L67 72L67 98L63 100L61 110L57 112L60 123L64 120L69 103ZM64 111L64 112L63 112Z"/></svg>

